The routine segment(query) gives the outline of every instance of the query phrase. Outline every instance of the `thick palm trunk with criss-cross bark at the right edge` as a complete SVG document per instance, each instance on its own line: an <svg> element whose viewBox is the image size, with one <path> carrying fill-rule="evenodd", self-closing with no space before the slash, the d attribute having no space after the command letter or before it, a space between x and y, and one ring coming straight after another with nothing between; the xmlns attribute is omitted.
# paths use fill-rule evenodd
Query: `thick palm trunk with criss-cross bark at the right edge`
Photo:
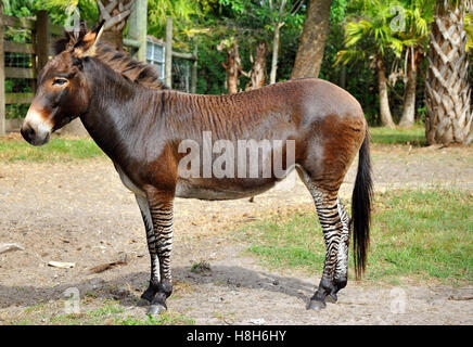
<svg viewBox="0 0 473 347"><path fill-rule="evenodd" d="M429 144L472 141L469 59L463 27L464 4L438 3L432 25L425 80Z"/></svg>

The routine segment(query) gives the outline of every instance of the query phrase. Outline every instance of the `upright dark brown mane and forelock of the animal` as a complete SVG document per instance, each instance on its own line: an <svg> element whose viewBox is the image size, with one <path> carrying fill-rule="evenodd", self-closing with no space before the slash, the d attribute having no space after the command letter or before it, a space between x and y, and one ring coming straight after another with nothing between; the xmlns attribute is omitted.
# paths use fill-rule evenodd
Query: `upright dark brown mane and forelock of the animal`
<svg viewBox="0 0 473 347"><path fill-rule="evenodd" d="M71 49L76 42L79 42L86 34L87 27L85 24L80 25L79 31L65 31L65 37L55 41L54 53L60 54ZM97 46L94 57L122 76L145 88L168 89L168 87L159 80L158 72L154 65L139 62L128 53L117 51L106 43L99 43Z"/></svg>

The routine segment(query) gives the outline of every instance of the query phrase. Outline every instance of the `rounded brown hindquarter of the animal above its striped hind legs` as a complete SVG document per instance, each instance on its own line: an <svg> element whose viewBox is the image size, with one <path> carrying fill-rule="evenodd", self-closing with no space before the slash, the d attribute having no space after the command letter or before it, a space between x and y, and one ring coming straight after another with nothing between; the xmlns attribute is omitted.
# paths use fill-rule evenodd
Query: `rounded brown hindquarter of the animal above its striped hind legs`
<svg viewBox="0 0 473 347"><path fill-rule="evenodd" d="M345 90L322 81L314 98L303 101L304 141L301 166L312 182L337 191L365 139L367 121L361 106Z"/></svg>

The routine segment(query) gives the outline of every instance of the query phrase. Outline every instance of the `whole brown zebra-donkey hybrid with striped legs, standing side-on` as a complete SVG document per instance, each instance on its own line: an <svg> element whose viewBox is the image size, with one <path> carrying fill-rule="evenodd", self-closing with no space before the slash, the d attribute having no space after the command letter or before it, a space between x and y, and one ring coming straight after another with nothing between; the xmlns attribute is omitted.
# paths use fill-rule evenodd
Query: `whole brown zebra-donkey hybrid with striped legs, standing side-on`
<svg viewBox="0 0 473 347"><path fill-rule="evenodd" d="M369 244L372 180L360 104L320 79L290 80L232 95L169 90L152 66L98 43L100 33L100 26L89 33L82 29L57 42L56 55L39 74L21 132L30 144L42 145L52 132L80 117L113 160L144 221L151 279L141 297L150 304L149 312L167 309L172 292L175 197L253 196L272 188L292 168L314 197L327 246L322 279L308 308L335 301L347 283L350 229L357 277L365 270ZM234 149L238 159L231 155ZM357 153L350 220L337 192ZM277 175L277 158L284 175ZM271 163L274 167L267 170Z"/></svg>

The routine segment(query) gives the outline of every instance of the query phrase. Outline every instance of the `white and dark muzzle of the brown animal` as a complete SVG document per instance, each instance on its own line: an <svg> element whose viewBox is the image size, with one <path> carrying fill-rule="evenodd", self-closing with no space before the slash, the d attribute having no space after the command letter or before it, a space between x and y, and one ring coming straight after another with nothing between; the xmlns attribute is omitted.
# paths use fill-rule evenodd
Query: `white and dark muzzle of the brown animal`
<svg viewBox="0 0 473 347"><path fill-rule="evenodd" d="M42 145L49 141L52 129L53 124L49 115L31 106L23 121L21 133L29 144Z"/></svg>

